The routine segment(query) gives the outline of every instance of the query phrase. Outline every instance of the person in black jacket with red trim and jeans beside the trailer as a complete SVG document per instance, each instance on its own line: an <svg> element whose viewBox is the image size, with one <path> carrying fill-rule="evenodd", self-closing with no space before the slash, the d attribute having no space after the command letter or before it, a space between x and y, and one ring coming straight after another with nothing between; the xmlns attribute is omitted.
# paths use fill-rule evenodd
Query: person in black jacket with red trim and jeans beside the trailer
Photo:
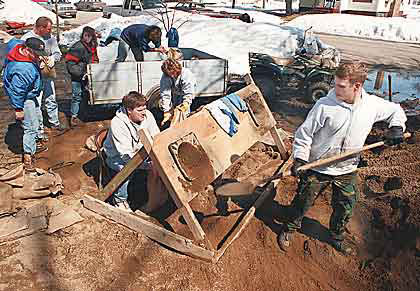
<svg viewBox="0 0 420 291"><path fill-rule="evenodd" d="M81 40L73 44L66 54L67 71L71 76L72 100L70 106L70 126L75 127L81 123L79 117L83 113L82 100L86 85L87 64L98 63L98 41L96 31L92 27L85 26ZM85 100L83 100L85 101ZM84 104L85 102L83 102ZM82 110L81 110L82 107Z"/></svg>

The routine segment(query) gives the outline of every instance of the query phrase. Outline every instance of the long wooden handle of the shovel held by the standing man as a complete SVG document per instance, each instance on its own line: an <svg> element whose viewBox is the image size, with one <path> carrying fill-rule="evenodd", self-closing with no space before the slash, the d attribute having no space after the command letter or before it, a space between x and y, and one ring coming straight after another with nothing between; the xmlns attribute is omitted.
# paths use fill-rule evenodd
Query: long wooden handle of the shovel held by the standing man
<svg viewBox="0 0 420 291"><path fill-rule="evenodd" d="M409 133L409 132L404 133L404 138L405 139L410 138L410 137L411 137L411 133ZM310 170L310 169L313 169L313 168L316 168L316 167L325 166L325 165L331 164L331 163L336 162L336 161L344 160L346 158L349 158L351 156L359 154L363 151L370 150L370 149L377 148L377 147L381 147L384 144L385 144L385 142L379 141L379 142L375 142L373 144L364 146L359 150L348 151L344 154L335 155L335 156L332 156L332 157L329 157L329 158L326 158L326 159L320 159L320 160L317 160L317 161L314 161L312 163L309 163L309 164L306 164L304 166L299 167L298 171L306 171L306 170ZM266 182L273 181L273 180L279 179L281 177L290 176L291 174L292 174L291 171L288 170L288 171L285 171L283 173L279 173L278 175L275 175L271 178L268 178L266 180Z"/></svg>

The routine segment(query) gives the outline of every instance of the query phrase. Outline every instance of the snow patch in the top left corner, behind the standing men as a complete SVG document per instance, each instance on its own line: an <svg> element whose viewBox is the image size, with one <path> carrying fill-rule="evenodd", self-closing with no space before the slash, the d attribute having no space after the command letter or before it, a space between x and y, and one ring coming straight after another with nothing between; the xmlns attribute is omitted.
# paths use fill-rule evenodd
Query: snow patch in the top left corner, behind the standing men
<svg viewBox="0 0 420 291"><path fill-rule="evenodd" d="M54 23L56 16L31 0L3 0L4 8L0 10L0 21L18 21L34 24L38 17L46 16Z"/></svg>

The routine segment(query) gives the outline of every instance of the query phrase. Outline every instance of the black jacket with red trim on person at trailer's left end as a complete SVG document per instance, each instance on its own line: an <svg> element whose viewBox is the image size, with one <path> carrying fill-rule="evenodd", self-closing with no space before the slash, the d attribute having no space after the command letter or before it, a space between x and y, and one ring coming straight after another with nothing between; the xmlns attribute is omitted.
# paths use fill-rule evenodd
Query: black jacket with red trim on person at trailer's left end
<svg viewBox="0 0 420 291"><path fill-rule="evenodd" d="M87 64L97 63L96 48L87 46L82 41L76 42L65 56L67 71L72 81L81 82L86 74Z"/></svg>

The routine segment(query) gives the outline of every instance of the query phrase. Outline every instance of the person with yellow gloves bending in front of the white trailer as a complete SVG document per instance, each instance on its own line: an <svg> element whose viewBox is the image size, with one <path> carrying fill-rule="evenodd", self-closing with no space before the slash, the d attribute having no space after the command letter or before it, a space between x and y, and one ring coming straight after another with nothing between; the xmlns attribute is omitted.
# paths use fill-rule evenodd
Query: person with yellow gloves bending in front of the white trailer
<svg viewBox="0 0 420 291"><path fill-rule="evenodd" d="M168 55L172 55L171 51ZM162 64L159 101L163 112L161 126L172 120L175 109L189 114L195 97L196 79L190 69L182 67L178 59L168 58Z"/></svg>

